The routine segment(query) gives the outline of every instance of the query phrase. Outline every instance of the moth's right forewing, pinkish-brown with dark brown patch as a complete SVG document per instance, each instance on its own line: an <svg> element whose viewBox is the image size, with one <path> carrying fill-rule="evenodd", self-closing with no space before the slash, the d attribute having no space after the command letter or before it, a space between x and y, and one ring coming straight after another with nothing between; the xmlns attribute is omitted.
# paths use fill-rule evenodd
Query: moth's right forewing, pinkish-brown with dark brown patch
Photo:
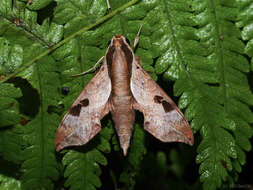
<svg viewBox="0 0 253 190"><path fill-rule="evenodd" d="M144 115L144 129L163 142L193 144L191 128L176 104L142 67L132 66L134 108Z"/></svg>

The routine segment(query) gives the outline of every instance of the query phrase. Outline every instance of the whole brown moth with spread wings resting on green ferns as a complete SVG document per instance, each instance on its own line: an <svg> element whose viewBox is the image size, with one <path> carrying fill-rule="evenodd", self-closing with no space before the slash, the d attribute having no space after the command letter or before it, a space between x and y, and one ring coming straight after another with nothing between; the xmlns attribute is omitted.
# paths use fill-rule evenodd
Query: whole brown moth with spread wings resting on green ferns
<svg viewBox="0 0 253 190"><path fill-rule="evenodd" d="M193 144L183 113L144 71L125 37L115 35L103 65L64 116L55 137L56 150L89 142L100 132L100 120L111 112L126 155L135 110L144 115L144 129L159 140Z"/></svg>

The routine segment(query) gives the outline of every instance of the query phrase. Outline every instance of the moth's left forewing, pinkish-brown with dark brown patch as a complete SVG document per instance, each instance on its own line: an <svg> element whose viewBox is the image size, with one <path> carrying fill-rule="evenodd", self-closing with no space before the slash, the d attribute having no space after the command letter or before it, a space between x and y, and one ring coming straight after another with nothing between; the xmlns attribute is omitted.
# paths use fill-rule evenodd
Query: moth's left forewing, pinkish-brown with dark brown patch
<svg viewBox="0 0 253 190"><path fill-rule="evenodd" d="M90 80L64 116L55 137L57 151L64 147L83 145L100 130L100 120L109 112L111 80L106 63Z"/></svg>

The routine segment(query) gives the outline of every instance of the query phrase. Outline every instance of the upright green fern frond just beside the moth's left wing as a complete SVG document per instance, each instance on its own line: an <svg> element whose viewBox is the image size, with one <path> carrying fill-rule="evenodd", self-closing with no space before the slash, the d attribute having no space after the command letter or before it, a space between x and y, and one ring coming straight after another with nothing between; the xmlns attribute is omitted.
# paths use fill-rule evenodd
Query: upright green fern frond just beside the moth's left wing
<svg viewBox="0 0 253 190"><path fill-rule="evenodd" d="M22 185L25 189L53 189L52 180L59 176L55 158L54 137L59 116L49 114L48 106L57 105L59 84L53 59L46 57L34 67L28 78L40 94L40 110L25 126L25 139L29 145L24 150Z"/></svg>

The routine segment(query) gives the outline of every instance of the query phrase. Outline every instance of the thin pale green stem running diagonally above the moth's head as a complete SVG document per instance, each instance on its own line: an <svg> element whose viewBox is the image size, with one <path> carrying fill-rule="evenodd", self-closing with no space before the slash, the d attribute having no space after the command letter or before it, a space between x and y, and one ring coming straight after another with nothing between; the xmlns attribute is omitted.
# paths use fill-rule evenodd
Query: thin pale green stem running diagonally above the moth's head
<svg viewBox="0 0 253 190"><path fill-rule="evenodd" d="M110 14L100 18L97 22L95 22L94 24L90 24L84 28L82 28L81 30L75 32L74 34L70 35L69 37L65 38L64 40L60 41L59 43L55 44L54 46L52 46L51 48L47 49L46 51L44 51L42 54L38 55L37 57L35 57L34 59L32 59L31 61L27 62L26 64L23 64L21 67L19 67L16 71L14 71L13 73L11 73L10 75L6 76L4 79L2 79L0 81L0 83L3 83L7 80L9 80L11 77L16 76L18 73L22 72L24 69L30 67L34 62L40 60L42 57L48 55L49 53L51 53L52 51L54 51L55 49L57 49L58 47L62 46L63 44L69 42L70 40L72 40L73 38L80 36L81 34L83 34L84 32L90 30L91 28L102 24L103 22L105 22L106 20L108 20L109 18L113 17L114 15L116 15L117 13L123 11L124 9L134 5L135 3L137 3L139 0L132 0L129 1L128 3L124 4L123 6L119 7L118 9L112 11Z"/></svg>

